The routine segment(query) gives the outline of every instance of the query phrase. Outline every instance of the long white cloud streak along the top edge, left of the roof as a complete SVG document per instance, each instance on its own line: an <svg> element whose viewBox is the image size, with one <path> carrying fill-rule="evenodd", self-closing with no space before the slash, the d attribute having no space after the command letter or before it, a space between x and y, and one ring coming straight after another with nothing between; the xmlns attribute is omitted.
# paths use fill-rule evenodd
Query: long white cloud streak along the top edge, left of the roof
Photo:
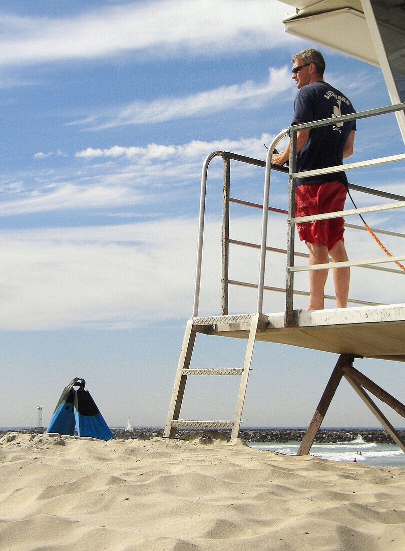
<svg viewBox="0 0 405 551"><path fill-rule="evenodd" d="M53 19L3 11L0 64L263 50L291 40L287 9L275 0L149 0Z"/></svg>

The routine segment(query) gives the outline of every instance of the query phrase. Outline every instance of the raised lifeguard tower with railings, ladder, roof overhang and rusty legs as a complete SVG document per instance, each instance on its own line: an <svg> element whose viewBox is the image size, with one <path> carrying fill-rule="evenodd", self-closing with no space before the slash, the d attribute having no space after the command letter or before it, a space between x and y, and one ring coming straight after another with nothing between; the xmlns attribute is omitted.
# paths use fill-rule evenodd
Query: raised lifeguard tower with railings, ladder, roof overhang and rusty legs
<svg viewBox="0 0 405 551"><path fill-rule="evenodd" d="M395 113L399 131L405 143L405 4L403 0L287 0L296 8L296 14L284 21L285 30L296 36L328 46L349 56L379 66L384 75L387 90L392 105L381 107L354 115L334 117L328 120L316 121L305 125L290 127L278 134L269 146L266 163L261 160L247 158L230 152L217 151L208 156L203 165L201 181L201 201L199 210L199 234L197 247L196 283L192 317L188 318L185 337L181 349L175 383L166 420L166 437L174 437L178 427L191 428L226 428L231 429L231 438L236 438L241 423L247 380L255 341L267 341L323 350L339 354L339 359L327 383L321 400L315 410L314 417L306 431L298 455L309 453L316 433L320 428L333 395L342 380L347 379L350 385L363 399L379 422L391 434L397 444L405 451L405 441L387 420L385 415L371 399L376 396L405 417L405 406L388 392L383 390L368 377L354 369L355 358L378 358L381 360L405 361L405 304L375 304L352 300L355 307L345 309L328 309L318 311L303 311L294 309L294 295L307 294L305 291L294 290L294 274L310 269L325 269L339 267L362 267L395 274L398 289L403 289L405 276L401 262L405 255L386 256L381 253L377 258L352 260L319 264L317 266L296 265L296 259L305 257L296 253L294 248L295 224L310 220L321 220L344 216L346 219L354 214L376 212L396 212L395 209L405 207L405 197L379 191L368 187L349 184L350 190L380 198L380 204L368 207L353 208L330 214L320 214L312 217L295 218L295 178L296 172L296 133L304 128L316 128L332 125L348 120L358 120L375 117L387 113ZM277 144L285 136L290 137L289 168L271 165L271 156ZM201 284L204 213L206 203L207 171L210 161L216 156L224 160L223 187L223 229L222 229L222 304L220 314L198 316L199 293ZM263 204L247 203L230 197L230 162L231 160L261 166L265 169ZM402 162L401 162L402 161ZM344 170L369 168L388 163L399 163L403 169L405 154L396 154L375 159L358 161L344 165ZM300 172L300 177L316 174L329 174L341 170L334 166L317 171ZM274 170L283 171L289 181L287 214L287 246L285 249L267 244L267 222L269 211L283 212L269 207L271 173ZM387 202L389 200L390 202ZM384 203L381 203L384 201ZM245 204L245 206L260 208L262 215L262 231L260 244L236 241L229 236L229 206L230 203ZM350 228L364 230L363 226L346 224ZM405 237L405 235L372 228L375 234ZM381 239L383 239L381 237ZM241 282L229 279L229 245L260 249L260 262L257 283ZM266 253L284 253L287 257L287 281L284 289L270 287L264 284L266 268ZM388 253L389 255L389 253ZM389 267L386 266L387 263ZM398 264L398 268L393 263ZM228 314L229 285L257 289L257 307L254 313ZM285 311L278 313L263 312L264 291L283 291L285 293ZM401 293L399 293L401 295ZM330 296L326 298L331 298ZM350 302L350 301L349 301ZM245 361L240 368L207 368L192 369L190 360L197 333L212 336L226 336L247 339ZM237 397L235 417L232 421L198 421L181 419L180 411L186 381L189 376L204 375L239 375L241 377L239 395ZM368 391L368 392L366 392Z"/></svg>

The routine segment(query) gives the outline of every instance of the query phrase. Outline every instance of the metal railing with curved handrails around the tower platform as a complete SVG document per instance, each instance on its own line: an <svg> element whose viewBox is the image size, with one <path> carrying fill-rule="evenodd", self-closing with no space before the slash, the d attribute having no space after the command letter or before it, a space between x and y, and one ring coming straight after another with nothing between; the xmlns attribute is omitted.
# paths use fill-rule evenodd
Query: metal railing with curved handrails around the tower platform
<svg viewBox="0 0 405 551"><path fill-rule="evenodd" d="M217 151L211 153L207 159L204 161L202 177L201 177L201 196L200 196L200 208L199 208L199 230L198 230L198 246L197 246L197 266L196 266L196 280L195 280L195 294L194 294L194 304L193 304L193 317L198 315L198 303L199 303L199 290L201 285L201 268L202 268L202 250L203 250L203 233L204 233L204 215L205 215L205 203L206 203L206 190L207 190L207 171L210 161L216 156L222 156L224 159L224 191L223 191L223 229L222 229L222 314L228 314L228 285L240 285L242 287L257 288L257 312L262 313L263 308L263 292L264 290L275 290L282 291L286 293L286 307L285 307L285 325L292 324L292 313L293 313L293 296L294 294L298 295L309 295L306 291L297 291L294 290L294 273L301 271L309 271L311 269L326 269L326 268L339 268L339 267L349 267L349 266L359 266L369 269L376 269L386 272L395 272L395 273L405 273L400 272L397 269L391 269L386 267L375 266L375 264L386 263L386 262L398 262L405 260L405 255L391 256L391 257L380 257L380 258L370 258L368 260L361 261L348 261L348 262L331 262L328 264L317 264L312 266L294 266L294 257L300 256L307 258L309 255L305 253L298 253L294 251L294 226L296 223L309 222L312 220L325 220L331 218L338 218L342 216L350 216L353 214L362 214L368 212L381 212L382 210L391 210L396 208L405 207L405 197L399 196L393 193L388 193L379 190L373 190L371 188L366 188L362 186L357 186L354 184L349 184L349 188L355 191L360 191L363 193L368 193L370 195L384 197L393 199L396 203L382 204L372 207L363 207L358 209L348 209L342 210L334 213L327 214L318 214L310 217L301 217L295 218L295 179L297 177L310 177L321 174L331 174L333 172L339 172L343 170L352 170L357 168L366 168L370 166L382 165L386 163L394 163L397 161L405 160L405 154L391 155L386 157L381 157L379 159L371 159L366 161L359 161L357 163L350 163L333 166L327 169L318 169L311 170L306 172L296 172L296 136L299 130L301 129L310 129L317 128L321 126L334 125L339 122L358 120L360 118L372 117L381 114L387 114L395 111L400 111L405 109L405 103L381 107L379 109L372 109L368 111L362 111L351 115L343 115L340 117L332 117L322 121L315 121L311 123L306 123L302 125L295 125L290 128L284 129L282 132L277 134L273 139L271 145L268 148L266 162L252 159L243 155L238 155L235 153ZM274 149L277 147L277 144L285 137L290 137L290 159L289 159L289 168L272 165L271 158ZM264 175L264 192L263 192L263 205L257 203L250 203L247 201L241 201L239 199L234 199L230 197L230 161L236 160L241 161L242 163L247 163L250 165L261 166L265 168ZM276 209L269 207L269 191L270 191L270 177L271 171L277 170L279 172L284 172L289 175L289 189L288 189L288 210ZM237 203L245 205L247 207L261 208L263 210L262 214L262 231L261 231L261 244L252 244L244 241L236 241L229 239L229 204ZM278 249L275 247L267 246L267 223L268 223L268 212L277 212L287 214L287 249ZM353 224L345 224L345 227L355 228L360 230L365 230L363 226L357 226ZM379 230L376 228L371 228L373 231L393 236L404 237L403 234ZM237 282L236 280L230 280L228 274L228 264L229 264L229 244L241 245L246 247L252 247L255 249L260 249L260 269L258 283L246 283L246 282ZM284 253L287 255L287 282L286 288L280 289L276 287L268 287L264 285L264 272L266 264L266 252L277 252ZM325 295L325 298L332 299L334 297ZM360 300L350 299L350 302L355 304L378 304L376 302L366 302Z"/></svg>

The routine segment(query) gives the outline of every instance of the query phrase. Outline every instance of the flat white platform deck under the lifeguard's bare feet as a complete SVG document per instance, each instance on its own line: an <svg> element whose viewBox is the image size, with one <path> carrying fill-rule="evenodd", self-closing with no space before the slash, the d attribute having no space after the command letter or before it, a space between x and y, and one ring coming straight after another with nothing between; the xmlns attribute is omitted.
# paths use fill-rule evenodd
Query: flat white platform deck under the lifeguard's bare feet
<svg viewBox="0 0 405 551"><path fill-rule="evenodd" d="M253 314L192 318L197 332L248 338ZM266 317L268 322L266 322ZM405 304L266 314L256 341L290 344L336 354L405 361Z"/></svg>

